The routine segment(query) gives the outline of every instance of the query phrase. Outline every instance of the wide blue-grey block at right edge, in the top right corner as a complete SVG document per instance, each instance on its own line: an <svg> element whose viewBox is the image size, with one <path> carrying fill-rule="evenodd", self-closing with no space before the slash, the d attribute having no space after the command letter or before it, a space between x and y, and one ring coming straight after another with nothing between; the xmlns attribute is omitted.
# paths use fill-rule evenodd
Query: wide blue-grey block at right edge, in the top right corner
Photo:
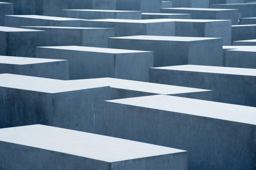
<svg viewBox="0 0 256 170"><path fill-rule="evenodd" d="M256 16L256 4L212 4L210 8L239 9L242 18Z"/></svg>

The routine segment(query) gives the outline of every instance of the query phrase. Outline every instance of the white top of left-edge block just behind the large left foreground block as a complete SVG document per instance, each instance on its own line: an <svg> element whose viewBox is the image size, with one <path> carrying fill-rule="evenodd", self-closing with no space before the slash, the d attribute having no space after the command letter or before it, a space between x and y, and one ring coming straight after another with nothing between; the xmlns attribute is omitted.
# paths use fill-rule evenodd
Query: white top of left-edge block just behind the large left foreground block
<svg viewBox="0 0 256 170"><path fill-rule="evenodd" d="M46 59L46 58L29 58L29 57L12 57L12 56L0 56L1 64L36 64L36 63L47 63L55 61L67 61L67 60L56 60L56 59Z"/></svg>

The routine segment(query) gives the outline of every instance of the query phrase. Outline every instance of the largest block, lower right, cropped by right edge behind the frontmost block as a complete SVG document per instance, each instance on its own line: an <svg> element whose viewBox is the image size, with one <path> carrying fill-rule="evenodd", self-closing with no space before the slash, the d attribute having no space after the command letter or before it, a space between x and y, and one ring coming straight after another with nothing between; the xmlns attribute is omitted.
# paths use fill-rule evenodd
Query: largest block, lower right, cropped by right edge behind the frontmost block
<svg viewBox="0 0 256 170"><path fill-rule="evenodd" d="M256 108L167 95L104 103L106 135L188 151L188 169L248 170ZM235 164L234 164L235 162Z"/></svg>

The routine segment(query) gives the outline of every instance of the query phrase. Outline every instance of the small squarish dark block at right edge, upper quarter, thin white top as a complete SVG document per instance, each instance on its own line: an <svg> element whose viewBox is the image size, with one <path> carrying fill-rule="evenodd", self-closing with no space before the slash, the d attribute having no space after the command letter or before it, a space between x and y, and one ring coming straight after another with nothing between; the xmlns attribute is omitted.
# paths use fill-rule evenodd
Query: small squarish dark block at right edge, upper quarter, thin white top
<svg viewBox="0 0 256 170"><path fill-rule="evenodd" d="M232 41L256 39L256 24L232 25Z"/></svg>

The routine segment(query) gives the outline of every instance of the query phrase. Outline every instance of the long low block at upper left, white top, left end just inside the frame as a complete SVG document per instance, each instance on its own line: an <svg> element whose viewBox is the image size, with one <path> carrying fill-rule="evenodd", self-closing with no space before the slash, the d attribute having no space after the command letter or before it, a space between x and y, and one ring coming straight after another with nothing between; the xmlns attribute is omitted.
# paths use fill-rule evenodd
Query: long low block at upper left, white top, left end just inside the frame
<svg viewBox="0 0 256 170"><path fill-rule="evenodd" d="M80 27L81 19L49 17L42 15L5 15L5 27L18 26L55 26L55 27Z"/></svg>

